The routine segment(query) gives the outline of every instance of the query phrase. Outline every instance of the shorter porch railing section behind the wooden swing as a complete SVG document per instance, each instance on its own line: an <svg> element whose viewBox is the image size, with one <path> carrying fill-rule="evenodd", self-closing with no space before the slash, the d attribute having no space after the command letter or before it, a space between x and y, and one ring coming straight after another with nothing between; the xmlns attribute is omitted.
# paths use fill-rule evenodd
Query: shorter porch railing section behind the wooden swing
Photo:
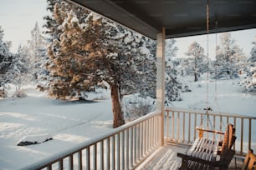
<svg viewBox="0 0 256 170"><path fill-rule="evenodd" d="M165 141L167 143L180 143L190 145L197 138L197 127L225 131L228 123L236 128L236 154L245 155L248 148L256 149L256 124L252 123L256 117L223 112L206 112L198 110L185 110L167 108L165 113ZM205 137L213 140L221 139L218 134L208 133ZM253 143L252 143L253 142Z"/></svg>

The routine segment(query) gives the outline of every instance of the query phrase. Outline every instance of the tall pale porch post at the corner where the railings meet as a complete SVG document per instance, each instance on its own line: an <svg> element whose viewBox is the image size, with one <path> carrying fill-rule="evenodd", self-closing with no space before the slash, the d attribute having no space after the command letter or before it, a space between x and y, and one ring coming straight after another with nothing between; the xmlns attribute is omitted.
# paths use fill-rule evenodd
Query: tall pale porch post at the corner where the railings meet
<svg viewBox="0 0 256 170"><path fill-rule="evenodd" d="M165 28L156 35L156 110L161 111L161 146L164 145Z"/></svg>

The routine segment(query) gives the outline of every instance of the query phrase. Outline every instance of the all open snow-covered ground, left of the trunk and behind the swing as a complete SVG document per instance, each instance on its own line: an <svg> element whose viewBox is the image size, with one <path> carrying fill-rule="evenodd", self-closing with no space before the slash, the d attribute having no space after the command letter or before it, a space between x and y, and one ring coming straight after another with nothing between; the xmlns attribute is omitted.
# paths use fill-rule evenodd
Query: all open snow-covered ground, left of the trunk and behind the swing
<svg viewBox="0 0 256 170"><path fill-rule="evenodd" d="M209 107L215 111L256 116L255 93L243 92L232 80L216 84L217 91L214 81L209 83ZM182 93L183 101L173 102L173 107L204 108L207 83L187 79L187 85L192 92ZM23 87L23 90L28 97L0 100L0 169L23 168L112 130L110 98L97 102L64 102L49 99L33 87ZM41 142L42 137L54 139L17 146L20 139L34 137Z"/></svg>

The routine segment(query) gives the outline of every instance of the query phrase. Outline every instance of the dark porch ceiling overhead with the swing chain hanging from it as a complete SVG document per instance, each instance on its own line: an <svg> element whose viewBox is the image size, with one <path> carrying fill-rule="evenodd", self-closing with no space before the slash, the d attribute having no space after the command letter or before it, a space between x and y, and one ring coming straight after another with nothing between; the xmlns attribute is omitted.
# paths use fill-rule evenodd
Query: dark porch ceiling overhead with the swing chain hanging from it
<svg viewBox="0 0 256 170"><path fill-rule="evenodd" d="M156 39L206 33L207 0L71 0ZM209 0L210 32L256 28L256 1ZM216 21L218 28L216 28Z"/></svg>

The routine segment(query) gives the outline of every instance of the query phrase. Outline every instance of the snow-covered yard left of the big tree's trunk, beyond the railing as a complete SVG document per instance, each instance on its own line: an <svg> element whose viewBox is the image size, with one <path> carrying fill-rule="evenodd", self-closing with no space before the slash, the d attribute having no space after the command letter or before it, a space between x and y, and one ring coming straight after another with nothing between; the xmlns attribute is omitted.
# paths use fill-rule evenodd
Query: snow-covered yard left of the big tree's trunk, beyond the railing
<svg viewBox="0 0 256 170"><path fill-rule="evenodd" d="M0 169L23 168L112 130L110 100L64 102L31 86L23 90L28 97L0 100ZM53 140L17 146L25 137L43 140L40 134L50 134Z"/></svg>

